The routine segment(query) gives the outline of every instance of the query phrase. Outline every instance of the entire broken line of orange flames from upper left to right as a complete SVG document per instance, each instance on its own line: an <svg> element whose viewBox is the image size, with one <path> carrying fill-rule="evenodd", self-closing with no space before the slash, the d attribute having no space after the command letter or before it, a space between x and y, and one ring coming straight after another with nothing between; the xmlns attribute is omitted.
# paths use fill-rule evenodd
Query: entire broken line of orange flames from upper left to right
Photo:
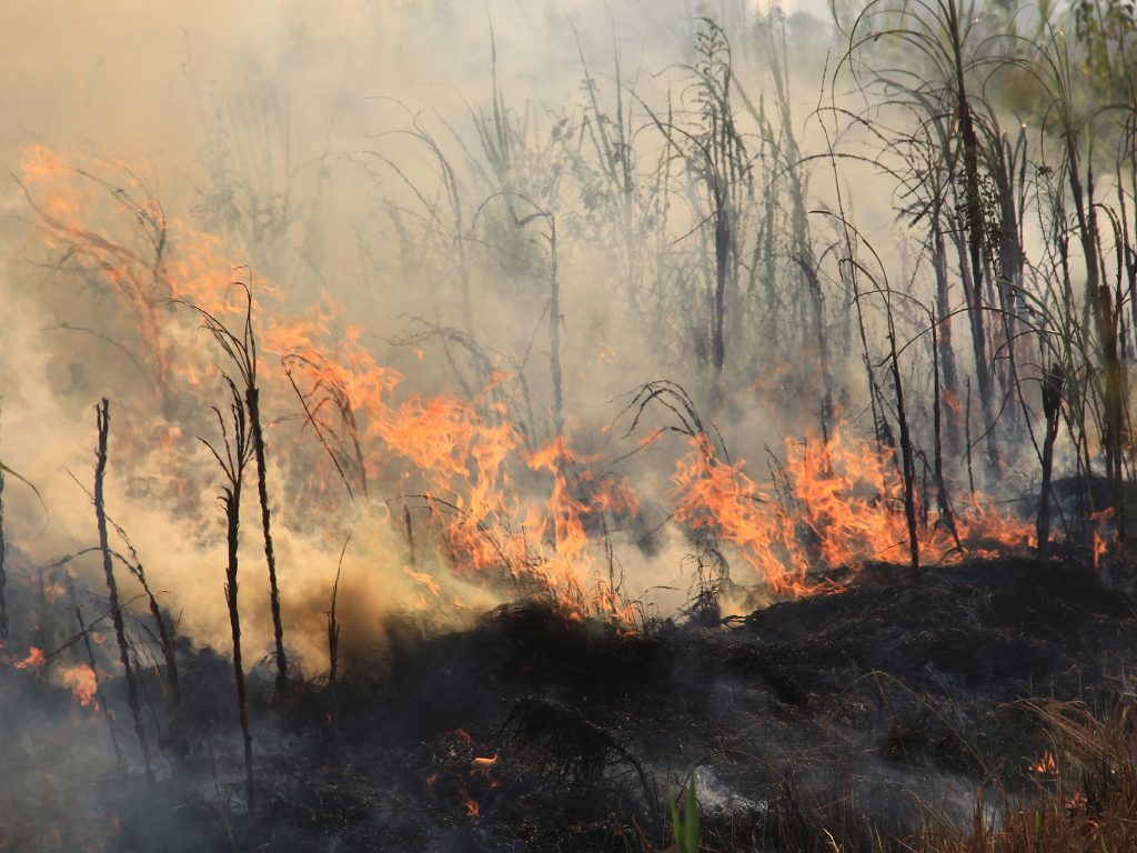
<svg viewBox="0 0 1137 853"><path fill-rule="evenodd" d="M97 177L107 169L121 175L121 187ZM636 624L633 607L613 580L607 531L613 519L637 515L640 502L628 480L605 473L603 461L574 449L568 437L538 445L511 417L507 391L520 387L520 378L488 367L483 387L468 399L408 391L404 375L376 359L363 343L364 330L348 322L330 296L287 310L287 295L258 280L247 301L233 283L239 264L222 242L167 216L138 169L32 147L22 180L48 245L98 270L131 312L164 405L188 396L208 412L219 357L201 346L200 317L171 300L194 305L233 329L249 310L263 398L302 413L304 430L294 439L274 433L272 442L281 449L276 459L284 474L304 483L305 498L334 507L346 486L352 502L370 504L392 522L387 502L415 502L428 511L428 530L412 536L408 527L408 544L434 549L430 556L439 560L412 555L404 569L421 586L415 594L422 606L429 598L455 597L447 588L449 573L464 583L537 595L567 619ZM90 224L107 217L117 217L118 230L131 229L132 239ZM421 350L413 355L424 357ZM192 473L193 457L185 452L192 430L156 431L152 424L121 430L133 446L158 455L176 483L171 496L196 494L191 486L200 474ZM648 434L641 449L664 432ZM297 444L287 445L290 440ZM806 580L811 569L903 558L907 533L895 467L891 452L835 430L828 441L787 444L791 494L782 495L755 482L744 461L717 458L709 439L698 436L672 477L674 517L714 531L775 594L810 594L819 591ZM387 494L376 494L380 489ZM1031 536L1029 524L1003 517L979 497L957 513L956 531L966 543L1004 546ZM920 545L929 561L958 552L941 523L924 529Z"/></svg>

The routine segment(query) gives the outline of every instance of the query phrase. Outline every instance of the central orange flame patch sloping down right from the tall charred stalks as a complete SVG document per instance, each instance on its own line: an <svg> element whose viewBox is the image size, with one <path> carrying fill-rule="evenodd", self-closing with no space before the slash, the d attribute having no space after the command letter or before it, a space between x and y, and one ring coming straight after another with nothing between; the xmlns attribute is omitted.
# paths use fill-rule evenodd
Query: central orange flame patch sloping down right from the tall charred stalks
<svg viewBox="0 0 1137 853"><path fill-rule="evenodd" d="M359 485L382 471L387 479L421 483L455 574L536 582L570 618L630 621L630 611L598 577L589 529L601 527L604 513L638 511L626 483L598 477L595 461L579 456L564 437L522 450L522 437L496 396L506 374L491 375L471 401L447 394L397 401L402 375L374 361L358 342L359 330L348 326L339 341L321 343L338 324L337 313L325 300L297 323L275 322L265 346L283 353L310 409L339 413ZM325 420L324 428L331 432L337 424ZM548 475L546 500L518 497L523 490L514 475L522 463ZM426 583L422 571L407 574ZM437 595L437 580L428 587Z"/></svg>

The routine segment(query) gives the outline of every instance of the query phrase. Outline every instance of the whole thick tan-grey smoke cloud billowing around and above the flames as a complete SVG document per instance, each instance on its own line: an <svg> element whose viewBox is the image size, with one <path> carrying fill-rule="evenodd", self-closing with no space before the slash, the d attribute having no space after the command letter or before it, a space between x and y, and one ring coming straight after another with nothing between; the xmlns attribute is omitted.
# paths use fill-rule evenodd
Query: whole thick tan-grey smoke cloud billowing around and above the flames
<svg viewBox="0 0 1137 853"><path fill-rule="evenodd" d="M816 108L829 25L733 0L649 8L14 15L0 458L48 515L13 481L10 538L40 563L90 547L91 409L108 397L107 511L179 630L225 647L210 449L234 429L224 376L240 376L191 306L239 332L240 281L285 644L305 672L327 664L338 570L351 654L381 648L392 613L460 627L534 589L636 621L723 580L737 607L755 594L732 583L804 588L800 558L790 582L765 575L802 541L758 557L762 537L708 538L700 513L720 508L692 499L675 519L677 489L725 473L715 499L750 524L792 497L787 437L887 420L850 355L840 227L818 210L841 188L872 235L893 227L891 199L848 196L866 166L835 183L800 162L832 141ZM885 242L883 266L903 270L903 240ZM879 357L882 305L864 303ZM674 384L642 391L657 380ZM250 465L241 606L259 655L273 626L254 480ZM838 503L865 504L853 480ZM788 517L770 523L800 538ZM98 579L97 561L68 565Z"/></svg>

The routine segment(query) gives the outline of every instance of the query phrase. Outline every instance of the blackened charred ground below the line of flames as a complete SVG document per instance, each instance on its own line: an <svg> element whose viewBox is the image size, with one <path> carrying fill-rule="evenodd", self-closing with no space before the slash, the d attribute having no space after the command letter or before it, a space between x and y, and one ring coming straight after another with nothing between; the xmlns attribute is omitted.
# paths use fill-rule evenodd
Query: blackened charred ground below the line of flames
<svg viewBox="0 0 1137 853"><path fill-rule="evenodd" d="M273 706L269 673L255 673L252 823L230 664L186 649L188 754L152 785L57 756L74 770L36 795L45 817L5 788L0 848L7 833L17 850L664 850L664 797L694 778L706 850L829 850L824 830L868 850L932 815L966 825L980 789L1037 793L1048 782L1028 768L1048 740L1022 699L1103 707L1130 688L1135 653L1134 599L1074 561L919 578L870 565L839 595L637 636L537 605L442 636L406 621L382 661L346 674L334 713L326 685ZM39 703L41 719L74 704L10 669L0 696ZM6 731L24 722L17 704ZM43 760L20 751L43 736L24 724L0 756L9 779ZM25 829L53 809L50 831Z"/></svg>

